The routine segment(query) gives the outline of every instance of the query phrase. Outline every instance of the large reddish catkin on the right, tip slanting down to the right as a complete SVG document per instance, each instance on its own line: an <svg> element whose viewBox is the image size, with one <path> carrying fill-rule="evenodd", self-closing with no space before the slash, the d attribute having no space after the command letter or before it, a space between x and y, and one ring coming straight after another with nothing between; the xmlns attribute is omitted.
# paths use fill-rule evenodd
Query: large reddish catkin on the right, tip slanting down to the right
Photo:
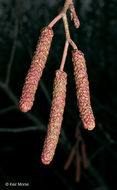
<svg viewBox="0 0 117 190"><path fill-rule="evenodd" d="M72 51L76 95L84 128L92 130L95 127L95 118L90 103L89 82L84 54L79 50Z"/></svg>

